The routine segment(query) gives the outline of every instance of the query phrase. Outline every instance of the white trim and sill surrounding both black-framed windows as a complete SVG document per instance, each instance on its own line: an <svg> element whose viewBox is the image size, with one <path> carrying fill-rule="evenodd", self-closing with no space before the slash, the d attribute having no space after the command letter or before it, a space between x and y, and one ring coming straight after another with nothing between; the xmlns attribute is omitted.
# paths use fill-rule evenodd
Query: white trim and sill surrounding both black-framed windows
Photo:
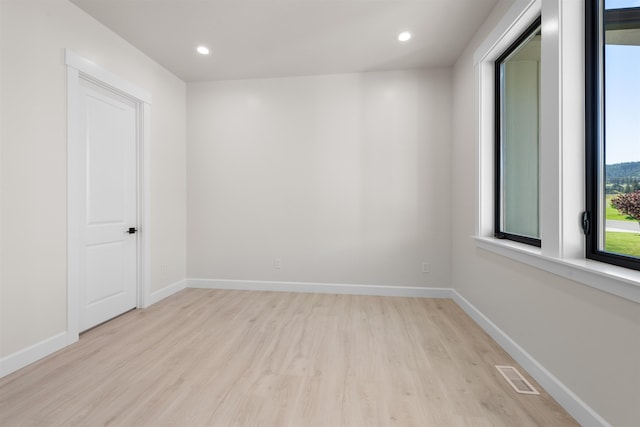
<svg viewBox="0 0 640 427"><path fill-rule="evenodd" d="M494 234L494 61L542 15L540 236L542 247ZM479 248L640 303L640 272L588 260L585 209L584 2L520 0L474 55L477 89Z"/></svg>

